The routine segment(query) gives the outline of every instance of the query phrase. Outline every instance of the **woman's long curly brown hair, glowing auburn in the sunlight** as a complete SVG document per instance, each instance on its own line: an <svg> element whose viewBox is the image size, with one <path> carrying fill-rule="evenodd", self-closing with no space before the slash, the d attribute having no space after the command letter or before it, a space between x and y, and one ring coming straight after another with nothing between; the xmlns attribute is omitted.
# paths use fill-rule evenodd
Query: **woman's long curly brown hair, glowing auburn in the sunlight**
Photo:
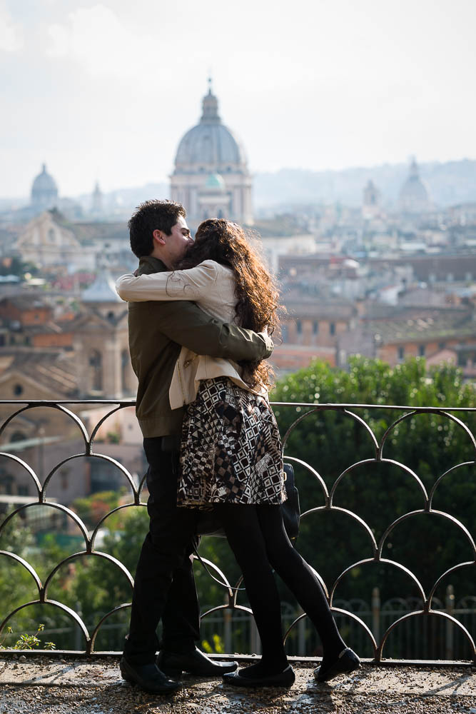
<svg viewBox="0 0 476 714"><path fill-rule="evenodd" d="M279 329L279 293L273 276L263 266L258 251L250 246L237 223L209 218L198 226L195 242L176 268L186 270L206 260L233 270L236 280L236 323L255 332L272 335ZM250 386L273 383L273 369L266 361L243 361L243 378Z"/></svg>

